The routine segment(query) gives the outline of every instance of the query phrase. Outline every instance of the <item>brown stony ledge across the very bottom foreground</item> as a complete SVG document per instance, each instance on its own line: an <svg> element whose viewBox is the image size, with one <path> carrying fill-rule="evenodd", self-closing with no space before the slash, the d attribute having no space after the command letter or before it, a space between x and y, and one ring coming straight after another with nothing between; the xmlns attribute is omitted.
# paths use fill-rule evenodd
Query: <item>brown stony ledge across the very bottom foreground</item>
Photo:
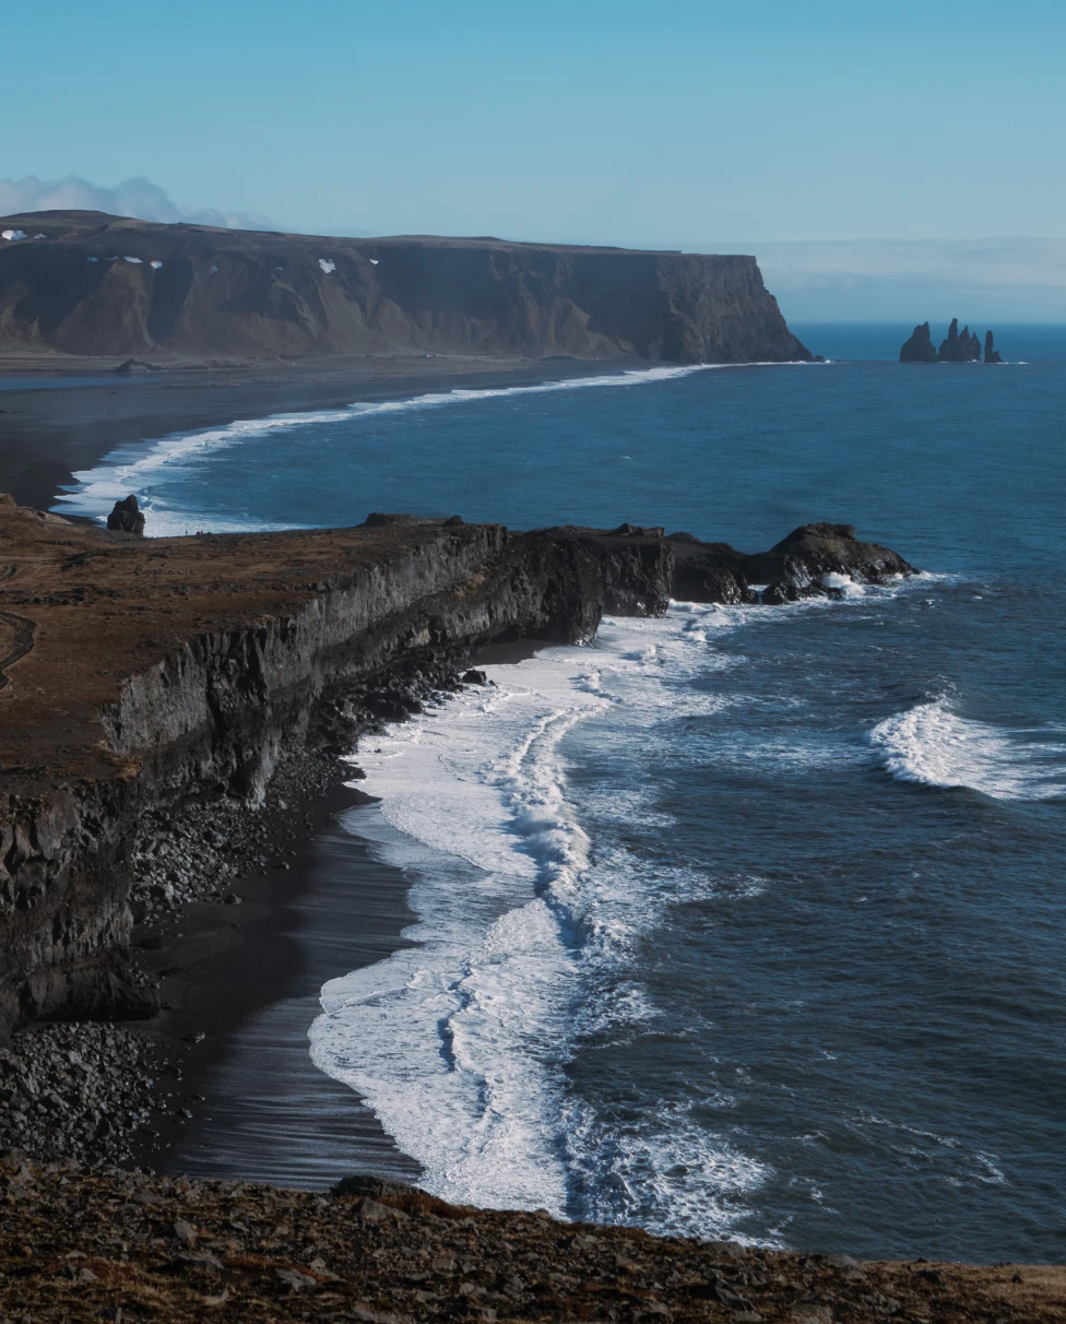
<svg viewBox="0 0 1066 1324"><path fill-rule="evenodd" d="M1066 1270L857 1263L446 1205L373 1178L314 1196L0 1168L9 1320L1066 1320Z"/></svg>

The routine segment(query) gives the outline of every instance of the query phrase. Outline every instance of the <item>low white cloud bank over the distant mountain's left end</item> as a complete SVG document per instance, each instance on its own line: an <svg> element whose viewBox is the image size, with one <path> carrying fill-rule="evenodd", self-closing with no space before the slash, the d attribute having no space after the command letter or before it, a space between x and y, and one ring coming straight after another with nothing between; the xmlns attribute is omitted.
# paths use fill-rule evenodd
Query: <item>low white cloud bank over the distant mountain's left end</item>
<svg viewBox="0 0 1066 1324"><path fill-rule="evenodd" d="M77 175L60 180L37 179L36 175L0 179L0 216L19 216L24 212L107 212L110 216L135 216L142 221L166 224L189 221L224 229L277 229L266 217L246 212L179 207L166 189L143 177L127 179L114 188L91 184Z"/></svg>

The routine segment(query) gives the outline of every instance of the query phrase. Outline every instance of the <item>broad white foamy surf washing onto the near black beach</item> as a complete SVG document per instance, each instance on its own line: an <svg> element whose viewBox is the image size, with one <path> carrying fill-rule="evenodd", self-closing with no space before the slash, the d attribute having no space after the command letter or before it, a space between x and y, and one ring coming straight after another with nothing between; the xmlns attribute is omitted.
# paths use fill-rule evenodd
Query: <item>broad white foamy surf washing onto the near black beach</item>
<svg viewBox="0 0 1066 1324"><path fill-rule="evenodd" d="M567 1090L583 1035L658 1017L634 945L693 879L593 849L565 741L596 723L597 741L632 749L634 730L675 716L663 678L703 666L707 637L734 628L716 608L702 609L702 629L693 620L674 608L665 621L608 621L592 647L489 669L495 688L360 751L360 785L383 798L356 830L407 867L418 922L411 948L323 988L311 1057L369 1103L437 1194L588 1217L592 1192L609 1190L597 1217L706 1235L726 1231L761 1180L695 1124L649 1115L612 1128ZM682 1157L689 1213L670 1194Z"/></svg>

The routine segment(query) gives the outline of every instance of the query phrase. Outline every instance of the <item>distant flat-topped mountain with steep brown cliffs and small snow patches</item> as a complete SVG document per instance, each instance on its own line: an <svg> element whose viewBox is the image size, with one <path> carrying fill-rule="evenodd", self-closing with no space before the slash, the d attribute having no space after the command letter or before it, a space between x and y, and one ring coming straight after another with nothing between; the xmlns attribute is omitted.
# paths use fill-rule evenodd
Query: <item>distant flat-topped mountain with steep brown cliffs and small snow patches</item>
<svg viewBox="0 0 1066 1324"><path fill-rule="evenodd" d="M753 257L0 220L0 348L806 360Z"/></svg>

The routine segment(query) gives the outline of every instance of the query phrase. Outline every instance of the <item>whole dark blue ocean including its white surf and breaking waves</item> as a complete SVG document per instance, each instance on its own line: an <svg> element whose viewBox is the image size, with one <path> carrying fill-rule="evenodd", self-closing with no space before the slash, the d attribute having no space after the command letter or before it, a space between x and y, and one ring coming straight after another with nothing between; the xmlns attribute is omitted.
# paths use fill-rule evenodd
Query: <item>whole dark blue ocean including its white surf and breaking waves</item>
<svg viewBox="0 0 1066 1324"><path fill-rule="evenodd" d="M997 328L1002 367L793 330L832 361L250 420L124 448L56 508L894 547L919 576L612 617L364 743L380 802L346 824L414 923L322 989L309 1054L454 1201L1061 1262L1066 328Z"/></svg>

